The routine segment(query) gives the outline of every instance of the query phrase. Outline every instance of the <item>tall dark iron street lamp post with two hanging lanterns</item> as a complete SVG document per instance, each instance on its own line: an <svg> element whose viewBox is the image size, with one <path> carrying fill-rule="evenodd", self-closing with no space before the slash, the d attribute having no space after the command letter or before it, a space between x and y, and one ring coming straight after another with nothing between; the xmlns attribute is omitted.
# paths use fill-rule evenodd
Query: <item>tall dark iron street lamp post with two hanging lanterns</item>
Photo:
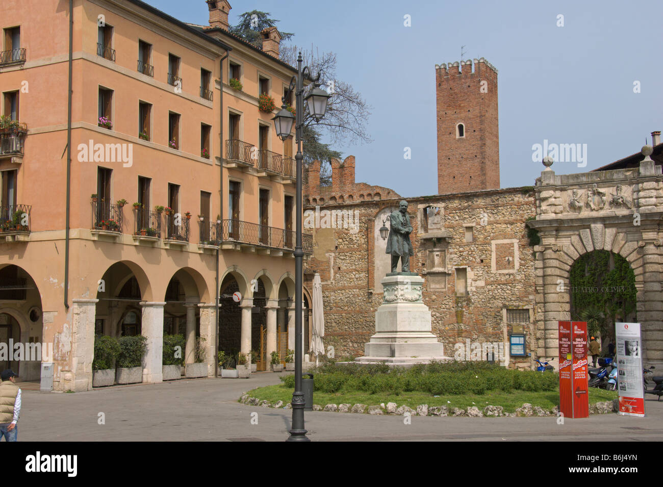
<svg viewBox="0 0 663 487"><path fill-rule="evenodd" d="M304 122L304 74L308 72L310 77L310 68L306 66L302 69L302 53L297 58L297 75L292 77L288 91L282 97L281 110L272 120L276 128L276 134L285 140L290 136L292 123L295 122L295 134L297 138L297 155L295 156L297 167L297 197L296 197L296 241L294 248L294 299L295 299L295 317L294 317L294 393L292 394L292 425L290 427L290 437L288 441L310 441L306 437L304 429L304 392L302 392L302 286L304 276L302 272L304 250L302 250L302 125ZM314 81L314 88L306 95L308 111L320 121L327 109L327 101L330 97L326 91L320 89L318 84L320 73ZM286 109L286 99L295 90L296 112L295 116Z"/></svg>

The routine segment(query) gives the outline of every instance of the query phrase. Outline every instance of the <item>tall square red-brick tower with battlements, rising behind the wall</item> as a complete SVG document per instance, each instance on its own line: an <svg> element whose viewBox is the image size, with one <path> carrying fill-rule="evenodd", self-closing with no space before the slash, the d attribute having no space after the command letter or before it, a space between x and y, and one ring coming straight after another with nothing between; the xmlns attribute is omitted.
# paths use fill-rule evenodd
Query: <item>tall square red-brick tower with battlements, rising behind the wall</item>
<svg viewBox="0 0 663 487"><path fill-rule="evenodd" d="M438 193L499 188L497 70L484 58L435 70Z"/></svg>

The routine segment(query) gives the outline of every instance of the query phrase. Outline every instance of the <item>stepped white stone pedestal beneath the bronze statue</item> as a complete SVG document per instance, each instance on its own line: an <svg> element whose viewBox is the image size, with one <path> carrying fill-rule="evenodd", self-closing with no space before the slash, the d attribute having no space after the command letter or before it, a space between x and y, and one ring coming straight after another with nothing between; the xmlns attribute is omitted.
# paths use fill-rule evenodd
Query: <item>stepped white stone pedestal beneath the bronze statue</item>
<svg viewBox="0 0 663 487"><path fill-rule="evenodd" d="M422 300L424 278L406 274L385 277L383 304L375 312L375 335L365 345L361 363L419 364L451 360L431 333L430 311Z"/></svg>

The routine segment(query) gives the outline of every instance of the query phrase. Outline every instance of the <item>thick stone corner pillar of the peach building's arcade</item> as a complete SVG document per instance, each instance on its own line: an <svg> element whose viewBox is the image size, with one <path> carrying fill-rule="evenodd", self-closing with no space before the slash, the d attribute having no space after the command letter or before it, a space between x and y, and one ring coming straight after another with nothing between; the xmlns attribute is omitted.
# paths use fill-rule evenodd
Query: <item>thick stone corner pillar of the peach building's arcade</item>
<svg viewBox="0 0 663 487"><path fill-rule="evenodd" d="M98 301L99 299L72 301L72 382L70 384L73 384L72 390L75 392L92 390L94 320Z"/></svg>

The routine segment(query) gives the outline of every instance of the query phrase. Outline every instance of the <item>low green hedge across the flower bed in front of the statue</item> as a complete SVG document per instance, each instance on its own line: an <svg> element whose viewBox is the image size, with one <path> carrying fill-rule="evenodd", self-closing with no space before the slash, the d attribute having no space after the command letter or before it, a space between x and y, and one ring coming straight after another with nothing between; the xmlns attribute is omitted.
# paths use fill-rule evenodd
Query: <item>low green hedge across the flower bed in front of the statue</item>
<svg viewBox="0 0 663 487"><path fill-rule="evenodd" d="M294 375L280 378L294 388ZM324 365L315 374L314 390L327 392L426 392L442 394L485 394L487 391L553 391L558 388L557 374L534 370L509 370L487 362L432 362L412 368L388 365Z"/></svg>

